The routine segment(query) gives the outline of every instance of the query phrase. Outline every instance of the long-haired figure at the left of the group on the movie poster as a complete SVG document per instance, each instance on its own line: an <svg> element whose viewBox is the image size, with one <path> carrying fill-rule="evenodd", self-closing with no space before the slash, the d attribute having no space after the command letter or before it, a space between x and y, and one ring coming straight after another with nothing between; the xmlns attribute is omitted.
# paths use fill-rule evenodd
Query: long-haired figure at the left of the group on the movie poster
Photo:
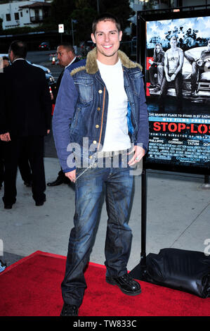
<svg viewBox="0 0 210 331"><path fill-rule="evenodd" d="M164 78L164 56L165 52L162 49L162 44L157 43L154 48L153 61L151 59L148 61L151 65L149 68L150 89L154 89L153 92L158 92L162 87ZM155 76L157 76L157 78Z"/></svg>

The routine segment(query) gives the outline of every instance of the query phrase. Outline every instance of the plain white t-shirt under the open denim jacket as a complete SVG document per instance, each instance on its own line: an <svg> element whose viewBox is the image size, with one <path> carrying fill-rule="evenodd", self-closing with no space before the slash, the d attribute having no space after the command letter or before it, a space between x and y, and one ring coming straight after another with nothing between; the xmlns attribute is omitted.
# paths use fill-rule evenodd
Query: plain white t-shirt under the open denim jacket
<svg viewBox="0 0 210 331"><path fill-rule="evenodd" d="M105 65L97 60L100 75L109 94L107 125L103 151L121 151L131 147L127 123L128 97L124 89L122 63Z"/></svg>

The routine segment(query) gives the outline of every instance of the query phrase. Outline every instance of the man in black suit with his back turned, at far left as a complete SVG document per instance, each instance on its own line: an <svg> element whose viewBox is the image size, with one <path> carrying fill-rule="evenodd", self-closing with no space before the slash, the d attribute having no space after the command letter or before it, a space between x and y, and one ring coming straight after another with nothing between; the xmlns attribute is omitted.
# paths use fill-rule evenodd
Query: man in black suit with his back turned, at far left
<svg viewBox="0 0 210 331"><path fill-rule="evenodd" d="M16 201L16 174L22 152L27 150L32 169L32 196L36 206L46 201L44 173L44 135L51 128L51 96L44 70L25 61L27 48L12 42L12 65L4 72L4 106L0 109L0 138L5 149L4 208Z"/></svg>

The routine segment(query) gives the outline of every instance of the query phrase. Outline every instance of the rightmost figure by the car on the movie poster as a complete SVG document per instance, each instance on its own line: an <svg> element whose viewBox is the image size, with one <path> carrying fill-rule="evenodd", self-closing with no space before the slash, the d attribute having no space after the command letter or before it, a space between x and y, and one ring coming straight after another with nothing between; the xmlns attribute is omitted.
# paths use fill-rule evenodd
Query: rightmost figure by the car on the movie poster
<svg viewBox="0 0 210 331"><path fill-rule="evenodd" d="M202 73L210 71L210 39L208 39L208 44L206 49L204 49L200 57L196 60L189 54L188 51L185 51L185 58L192 65L192 74L191 74L191 96L197 96L198 80Z"/></svg>

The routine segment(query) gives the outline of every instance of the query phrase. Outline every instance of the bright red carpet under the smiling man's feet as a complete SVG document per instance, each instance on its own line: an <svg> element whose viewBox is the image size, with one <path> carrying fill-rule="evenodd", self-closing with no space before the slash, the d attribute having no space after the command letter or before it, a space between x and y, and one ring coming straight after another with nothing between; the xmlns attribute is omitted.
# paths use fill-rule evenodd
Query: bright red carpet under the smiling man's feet
<svg viewBox="0 0 210 331"><path fill-rule="evenodd" d="M37 251L0 274L0 316L59 316L65 257ZM209 316L209 299L140 282L126 296L105 282L105 267L89 263L79 316Z"/></svg>

